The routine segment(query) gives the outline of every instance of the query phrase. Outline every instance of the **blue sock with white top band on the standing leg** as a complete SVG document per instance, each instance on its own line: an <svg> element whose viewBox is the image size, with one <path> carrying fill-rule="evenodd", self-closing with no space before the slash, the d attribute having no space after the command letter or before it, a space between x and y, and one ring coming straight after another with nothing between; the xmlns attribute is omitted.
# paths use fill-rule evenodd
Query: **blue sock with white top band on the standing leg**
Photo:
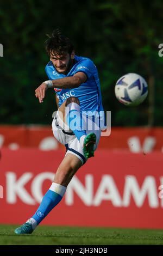
<svg viewBox="0 0 163 256"><path fill-rule="evenodd" d="M61 201L65 192L66 187L53 182L52 186L43 197L39 208L32 216L37 224L39 224L49 214L49 212Z"/></svg>

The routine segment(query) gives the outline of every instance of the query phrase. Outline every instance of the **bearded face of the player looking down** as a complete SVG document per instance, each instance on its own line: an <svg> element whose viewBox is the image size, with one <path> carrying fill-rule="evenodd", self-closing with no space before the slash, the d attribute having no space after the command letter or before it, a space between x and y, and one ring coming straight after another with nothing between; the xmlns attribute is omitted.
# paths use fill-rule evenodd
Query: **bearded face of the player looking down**
<svg viewBox="0 0 163 256"><path fill-rule="evenodd" d="M62 74L66 74L67 70L72 65L72 61L74 59L74 52L71 53L65 53L63 55L53 54L50 55L51 61L55 67L55 69Z"/></svg>

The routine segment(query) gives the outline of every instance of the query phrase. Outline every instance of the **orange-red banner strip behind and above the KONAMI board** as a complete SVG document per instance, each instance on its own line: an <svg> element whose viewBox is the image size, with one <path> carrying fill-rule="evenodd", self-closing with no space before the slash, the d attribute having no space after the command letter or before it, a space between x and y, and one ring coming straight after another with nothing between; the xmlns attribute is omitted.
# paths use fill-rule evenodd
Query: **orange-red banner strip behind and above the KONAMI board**
<svg viewBox="0 0 163 256"><path fill-rule="evenodd" d="M105 135L105 133L104 133ZM0 148L12 150L38 148L40 150L64 149L54 138L52 126L0 126ZM163 152L163 128L112 127L110 136L102 136L99 149L130 151L131 153Z"/></svg>

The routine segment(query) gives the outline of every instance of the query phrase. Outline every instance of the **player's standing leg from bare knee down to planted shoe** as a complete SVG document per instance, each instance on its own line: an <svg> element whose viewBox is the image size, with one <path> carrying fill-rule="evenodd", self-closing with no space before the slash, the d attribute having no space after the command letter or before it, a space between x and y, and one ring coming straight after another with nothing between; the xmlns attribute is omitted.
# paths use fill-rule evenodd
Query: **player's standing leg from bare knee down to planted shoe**
<svg viewBox="0 0 163 256"><path fill-rule="evenodd" d="M49 212L61 201L66 192L67 185L73 175L82 166L77 156L67 154L58 167L54 181L42 199L42 202L29 220L15 229L16 234L31 234L37 225L49 214Z"/></svg>

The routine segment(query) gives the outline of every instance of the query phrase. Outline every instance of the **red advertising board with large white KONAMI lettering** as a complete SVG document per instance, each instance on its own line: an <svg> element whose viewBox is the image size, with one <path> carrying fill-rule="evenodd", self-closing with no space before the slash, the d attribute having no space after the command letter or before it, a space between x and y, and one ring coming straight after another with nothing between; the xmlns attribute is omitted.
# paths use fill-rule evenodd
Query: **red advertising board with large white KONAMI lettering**
<svg viewBox="0 0 163 256"><path fill-rule="evenodd" d="M2 149L0 223L21 224L34 214L63 157L63 150ZM162 166L161 153L98 149L42 224L162 229Z"/></svg>

